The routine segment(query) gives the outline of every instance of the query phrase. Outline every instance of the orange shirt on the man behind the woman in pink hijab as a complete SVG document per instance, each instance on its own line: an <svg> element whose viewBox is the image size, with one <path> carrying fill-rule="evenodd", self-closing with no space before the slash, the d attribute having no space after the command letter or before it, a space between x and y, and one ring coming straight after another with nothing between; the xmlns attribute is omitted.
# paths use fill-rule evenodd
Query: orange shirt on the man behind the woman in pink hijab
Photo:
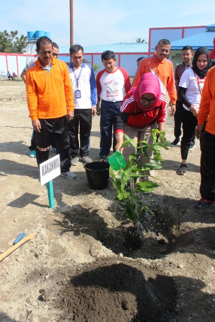
<svg viewBox="0 0 215 322"><path fill-rule="evenodd" d="M175 89L173 64L166 58L160 61L155 57L154 54L153 57L142 59L139 64L139 68L134 78L132 87L137 86L142 75L146 74L147 72L152 72L152 70L155 74L157 74L157 76L163 83L165 90L167 90L169 94L171 103L175 104L177 100L177 92Z"/></svg>

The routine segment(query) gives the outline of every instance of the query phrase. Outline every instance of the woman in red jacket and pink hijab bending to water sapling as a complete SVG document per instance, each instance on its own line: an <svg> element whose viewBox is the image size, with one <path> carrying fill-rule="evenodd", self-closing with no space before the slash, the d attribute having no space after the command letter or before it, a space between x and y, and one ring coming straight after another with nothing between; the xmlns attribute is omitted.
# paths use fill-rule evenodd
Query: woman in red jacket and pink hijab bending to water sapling
<svg viewBox="0 0 215 322"><path fill-rule="evenodd" d="M158 128L163 131L166 118L167 98L161 92L159 78L151 72L146 73L141 77L137 87L132 88L123 99L114 127L115 150L121 149L124 133L136 142L145 139L152 144L152 129ZM125 159L134 152L130 144L123 148ZM144 154L140 155L140 164L149 162L152 151L148 151L148 154L147 160Z"/></svg>

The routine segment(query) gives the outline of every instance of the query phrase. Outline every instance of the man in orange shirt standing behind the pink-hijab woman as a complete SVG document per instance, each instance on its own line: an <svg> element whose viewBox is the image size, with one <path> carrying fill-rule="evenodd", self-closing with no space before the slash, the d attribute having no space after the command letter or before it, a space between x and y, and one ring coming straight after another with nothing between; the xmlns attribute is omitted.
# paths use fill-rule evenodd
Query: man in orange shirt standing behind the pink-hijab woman
<svg viewBox="0 0 215 322"><path fill-rule="evenodd" d="M144 58L139 64L136 76L134 78L132 87L136 87L140 81L142 75L147 72L152 72L158 76L161 85L161 91L165 93L167 90L170 102L171 102L171 112L170 115L175 114L175 104L177 100L177 92L175 88L174 70L173 64L167 59L171 44L167 39L161 39L157 46L155 46L155 54L153 57Z"/></svg>

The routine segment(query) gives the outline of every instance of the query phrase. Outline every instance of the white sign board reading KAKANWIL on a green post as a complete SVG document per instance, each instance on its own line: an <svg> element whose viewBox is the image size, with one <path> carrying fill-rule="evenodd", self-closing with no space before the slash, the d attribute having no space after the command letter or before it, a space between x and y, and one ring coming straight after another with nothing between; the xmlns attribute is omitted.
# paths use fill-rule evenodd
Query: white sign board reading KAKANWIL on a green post
<svg viewBox="0 0 215 322"><path fill-rule="evenodd" d="M40 185L44 185L50 180L60 175L60 156L53 156L40 164Z"/></svg>

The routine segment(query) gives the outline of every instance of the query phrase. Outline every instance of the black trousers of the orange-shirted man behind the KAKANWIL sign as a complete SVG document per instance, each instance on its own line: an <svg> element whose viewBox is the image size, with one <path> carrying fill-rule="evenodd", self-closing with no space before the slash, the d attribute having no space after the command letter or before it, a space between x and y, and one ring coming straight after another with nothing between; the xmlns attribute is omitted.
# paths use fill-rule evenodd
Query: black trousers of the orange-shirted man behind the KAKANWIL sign
<svg viewBox="0 0 215 322"><path fill-rule="evenodd" d="M54 119L39 119L41 129L36 132L36 157L38 166L48 160L49 149L55 142L60 155L60 171L68 172L71 166L69 154L69 138L66 116Z"/></svg>

